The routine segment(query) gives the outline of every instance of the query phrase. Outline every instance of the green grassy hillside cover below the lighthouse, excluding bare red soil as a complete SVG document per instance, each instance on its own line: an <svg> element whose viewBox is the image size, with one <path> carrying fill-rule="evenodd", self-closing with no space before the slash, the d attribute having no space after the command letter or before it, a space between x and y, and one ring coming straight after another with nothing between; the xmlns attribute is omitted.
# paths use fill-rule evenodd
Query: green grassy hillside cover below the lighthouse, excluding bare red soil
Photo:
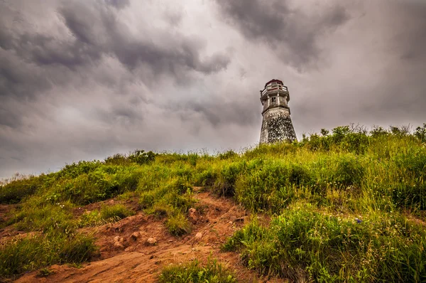
<svg viewBox="0 0 426 283"><path fill-rule="evenodd" d="M10 181L0 187L0 203L11 207L0 228L28 233L1 241L0 277L90 260L97 247L84 228L140 210L182 237L192 229L187 215L197 203L194 188L202 187L251 212L222 250L239 253L258 274L293 282L425 281L425 143L426 124L413 134L337 127L242 154L134 151ZM138 205L74 213L109 198ZM258 221L257 214L270 221ZM168 267L159 279L170 282L176 274L192 282L236 280L218 262Z"/></svg>

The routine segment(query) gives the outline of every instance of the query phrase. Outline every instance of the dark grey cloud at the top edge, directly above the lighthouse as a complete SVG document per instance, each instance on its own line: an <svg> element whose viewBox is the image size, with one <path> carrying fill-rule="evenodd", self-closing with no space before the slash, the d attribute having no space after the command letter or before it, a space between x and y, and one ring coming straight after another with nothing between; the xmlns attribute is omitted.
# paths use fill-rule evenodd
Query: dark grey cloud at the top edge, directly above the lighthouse
<svg viewBox="0 0 426 283"><path fill-rule="evenodd" d="M285 63L300 70L315 65L320 57L317 39L349 19L339 4L319 7L319 13L310 14L290 7L287 0L225 0L217 4L246 38L272 46Z"/></svg>

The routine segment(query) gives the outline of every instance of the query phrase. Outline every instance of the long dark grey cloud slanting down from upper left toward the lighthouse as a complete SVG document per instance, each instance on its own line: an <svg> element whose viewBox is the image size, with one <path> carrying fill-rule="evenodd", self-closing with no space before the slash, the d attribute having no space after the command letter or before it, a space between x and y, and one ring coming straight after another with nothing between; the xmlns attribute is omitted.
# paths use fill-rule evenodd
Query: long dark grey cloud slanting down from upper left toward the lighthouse
<svg viewBox="0 0 426 283"><path fill-rule="evenodd" d="M141 38L133 38L113 11L98 6L91 11L84 5L68 3L60 9L67 28L80 43L79 50L82 46L95 48L99 52L115 55L129 69L140 64L148 65L154 75L168 73L175 78L191 70L207 74L217 72L229 64L229 58L223 53L200 58L200 40L186 38L179 33L176 36L176 33L172 35L168 31L159 31L164 38L170 39L167 45L153 43L145 37L148 36L147 31L143 31Z"/></svg>

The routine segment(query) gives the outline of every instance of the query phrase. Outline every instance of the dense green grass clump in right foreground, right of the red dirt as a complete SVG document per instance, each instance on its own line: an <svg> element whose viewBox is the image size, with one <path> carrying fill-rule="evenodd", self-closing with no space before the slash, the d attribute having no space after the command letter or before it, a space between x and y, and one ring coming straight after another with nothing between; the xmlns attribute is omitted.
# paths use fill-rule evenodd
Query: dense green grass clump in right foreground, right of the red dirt
<svg viewBox="0 0 426 283"><path fill-rule="evenodd" d="M247 267L294 282L420 282L426 279L426 233L401 215L361 219L299 203L271 220L237 231L224 250L239 250Z"/></svg>

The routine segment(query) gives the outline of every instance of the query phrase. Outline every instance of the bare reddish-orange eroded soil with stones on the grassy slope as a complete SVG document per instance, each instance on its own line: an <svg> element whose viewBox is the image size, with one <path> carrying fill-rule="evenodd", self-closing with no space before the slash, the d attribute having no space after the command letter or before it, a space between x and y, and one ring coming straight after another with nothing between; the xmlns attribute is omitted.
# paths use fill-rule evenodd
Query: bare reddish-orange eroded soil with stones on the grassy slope
<svg viewBox="0 0 426 283"><path fill-rule="evenodd" d="M156 282L165 266L195 259L205 263L208 258L224 263L239 282L285 282L258 277L256 272L241 265L238 253L220 250L226 239L250 220L246 210L229 198L217 198L209 193L197 193L195 198L199 200L195 205L197 213L188 235L174 237L165 228L164 220L138 211L116 223L81 229L84 233L93 233L97 239L99 255L92 258L92 262L80 268L53 265L47 276L40 276L36 270L16 282ZM133 205L134 201L129 201L129 206ZM96 204L81 208L75 214L94 208ZM197 233L201 233L201 237L196 237ZM147 244L149 237L155 238L155 245Z"/></svg>

